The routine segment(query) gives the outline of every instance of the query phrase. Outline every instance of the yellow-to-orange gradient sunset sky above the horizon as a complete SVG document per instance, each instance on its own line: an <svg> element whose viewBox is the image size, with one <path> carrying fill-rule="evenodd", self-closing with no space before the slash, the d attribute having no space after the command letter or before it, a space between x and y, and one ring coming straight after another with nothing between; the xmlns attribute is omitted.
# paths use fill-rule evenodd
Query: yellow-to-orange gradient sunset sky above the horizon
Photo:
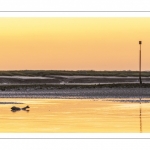
<svg viewBox="0 0 150 150"><path fill-rule="evenodd" d="M0 18L0 70L150 70L150 18Z"/></svg>

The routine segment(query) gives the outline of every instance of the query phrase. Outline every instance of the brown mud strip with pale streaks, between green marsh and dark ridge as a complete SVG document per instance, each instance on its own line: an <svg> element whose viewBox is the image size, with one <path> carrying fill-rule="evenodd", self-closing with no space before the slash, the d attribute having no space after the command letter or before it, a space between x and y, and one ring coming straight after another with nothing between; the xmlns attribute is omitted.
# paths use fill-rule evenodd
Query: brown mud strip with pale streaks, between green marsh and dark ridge
<svg viewBox="0 0 150 150"><path fill-rule="evenodd" d="M143 83L150 83L150 77L142 77ZM9 84L101 84L139 83L138 76L85 76L50 75L43 76L0 76L0 85Z"/></svg>

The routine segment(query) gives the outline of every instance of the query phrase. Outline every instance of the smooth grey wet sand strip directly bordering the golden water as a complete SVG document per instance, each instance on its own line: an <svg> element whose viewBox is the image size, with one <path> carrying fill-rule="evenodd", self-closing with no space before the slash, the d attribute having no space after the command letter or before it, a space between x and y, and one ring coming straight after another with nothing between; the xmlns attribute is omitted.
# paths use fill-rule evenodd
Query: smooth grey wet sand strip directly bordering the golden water
<svg viewBox="0 0 150 150"><path fill-rule="evenodd" d="M0 91L0 98L148 98L150 88L20 89Z"/></svg>

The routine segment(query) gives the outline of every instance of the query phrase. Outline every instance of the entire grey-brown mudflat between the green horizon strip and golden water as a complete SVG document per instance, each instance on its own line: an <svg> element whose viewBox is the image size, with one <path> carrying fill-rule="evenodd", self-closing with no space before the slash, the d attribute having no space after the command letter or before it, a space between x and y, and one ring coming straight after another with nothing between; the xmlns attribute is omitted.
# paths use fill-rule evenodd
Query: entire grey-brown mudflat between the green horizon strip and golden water
<svg viewBox="0 0 150 150"><path fill-rule="evenodd" d="M8 72L7 72L8 73ZM34 72L32 72L32 75ZM68 72L67 72L68 73ZM102 72L105 73L105 72ZM113 72L111 72L112 74ZM1 98L147 98L150 97L150 77L90 75L1 75ZM134 75L132 73L132 75Z"/></svg>

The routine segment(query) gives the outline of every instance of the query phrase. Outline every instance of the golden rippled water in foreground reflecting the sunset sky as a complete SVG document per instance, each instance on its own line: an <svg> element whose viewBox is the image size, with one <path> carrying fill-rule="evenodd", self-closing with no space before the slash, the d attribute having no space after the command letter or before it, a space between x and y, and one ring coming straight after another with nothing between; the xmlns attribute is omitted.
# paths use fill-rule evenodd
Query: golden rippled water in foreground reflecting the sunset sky
<svg viewBox="0 0 150 150"><path fill-rule="evenodd" d="M139 133L150 132L150 103L115 99L0 99L3 133ZM30 111L12 112L12 106Z"/></svg>

